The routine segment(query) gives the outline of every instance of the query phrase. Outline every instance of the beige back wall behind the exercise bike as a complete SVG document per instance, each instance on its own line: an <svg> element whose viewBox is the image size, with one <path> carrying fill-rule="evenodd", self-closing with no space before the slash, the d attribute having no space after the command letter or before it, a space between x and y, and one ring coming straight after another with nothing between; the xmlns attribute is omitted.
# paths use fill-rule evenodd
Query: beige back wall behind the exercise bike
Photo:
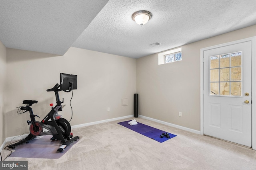
<svg viewBox="0 0 256 170"><path fill-rule="evenodd" d="M32 106L34 114L41 117L36 117L38 121L50 111L50 103L56 104L54 92L46 90L60 83L60 72L78 75L71 125L133 114L136 59L74 47L64 56L7 48L7 137L28 132L29 113L16 112L23 100L38 100ZM72 94L59 94L66 104L59 114L70 120ZM122 106L122 98L128 98L128 106Z"/></svg>

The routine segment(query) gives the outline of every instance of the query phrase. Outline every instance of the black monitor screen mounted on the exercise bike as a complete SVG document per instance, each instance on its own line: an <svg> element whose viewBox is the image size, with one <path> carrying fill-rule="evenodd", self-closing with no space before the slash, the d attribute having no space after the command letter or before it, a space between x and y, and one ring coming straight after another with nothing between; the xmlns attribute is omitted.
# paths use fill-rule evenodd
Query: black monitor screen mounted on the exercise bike
<svg viewBox="0 0 256 170"><path fill-rule="evenodd" d="M60 90L77 89L77 75L60 73Z"/></svg>

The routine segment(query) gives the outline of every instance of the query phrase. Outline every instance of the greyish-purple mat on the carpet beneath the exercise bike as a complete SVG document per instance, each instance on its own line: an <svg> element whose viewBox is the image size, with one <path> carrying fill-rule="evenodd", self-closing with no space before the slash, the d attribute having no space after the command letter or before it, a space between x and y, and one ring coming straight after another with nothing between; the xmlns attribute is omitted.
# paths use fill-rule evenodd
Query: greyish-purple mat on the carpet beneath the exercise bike
<svg viewBox="0 0 256 170"><path fill-rule="evenodd" d="M50 140L51 137L52 135L38 136L29 141L29 143L18 145L10 157L58 159L82 138L79 137L77 141L70 143L64 152L58 152L57 149L62 145L62 142L52 141Z"/></svg>

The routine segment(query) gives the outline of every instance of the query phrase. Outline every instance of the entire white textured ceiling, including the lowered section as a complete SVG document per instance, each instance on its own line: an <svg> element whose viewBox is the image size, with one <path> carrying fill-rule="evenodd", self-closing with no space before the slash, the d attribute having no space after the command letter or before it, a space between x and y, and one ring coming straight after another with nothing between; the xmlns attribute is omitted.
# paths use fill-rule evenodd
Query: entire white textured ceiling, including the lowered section
<svg viewBox="0 0 256 170"><path fill-rule="evenodd" d="M254 25L255 9L256 0L1 0L0 41L57 55L78 47L140 58ZM143 27L131 18L138 10L153 14Z"/></svg>

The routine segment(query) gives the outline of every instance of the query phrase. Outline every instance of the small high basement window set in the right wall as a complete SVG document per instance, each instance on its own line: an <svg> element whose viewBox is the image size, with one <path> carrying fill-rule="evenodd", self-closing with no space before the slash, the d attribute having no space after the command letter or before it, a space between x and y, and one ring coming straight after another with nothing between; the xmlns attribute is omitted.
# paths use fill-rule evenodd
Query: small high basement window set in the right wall
<svg viewBox="0 0 256 170"><path fill-rule="evenodd" d="M181 61L181 59L182 59L181 48L166 51L164 53L158 54L158 65Z"/></svg>

